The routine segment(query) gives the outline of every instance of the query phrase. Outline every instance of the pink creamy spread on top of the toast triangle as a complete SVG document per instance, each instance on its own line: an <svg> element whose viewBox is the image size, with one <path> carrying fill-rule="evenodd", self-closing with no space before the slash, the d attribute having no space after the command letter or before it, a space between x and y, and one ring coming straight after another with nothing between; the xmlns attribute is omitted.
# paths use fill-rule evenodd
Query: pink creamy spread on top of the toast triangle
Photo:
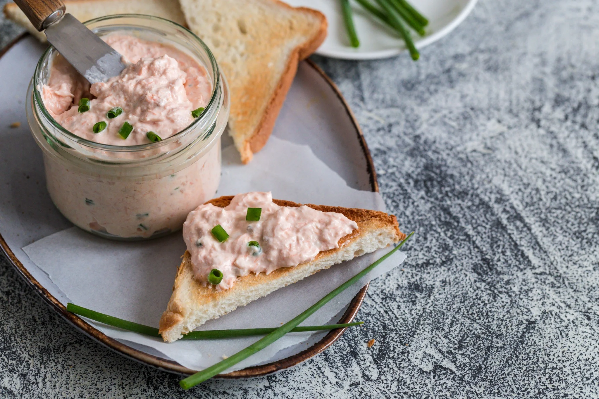
<svg viewBox="0 0 599 399"><path fill-rule="evenodd" d="M262 208L260 220L246 221L247 208ZM225 242L211 233L217 224L229 234ZM223 279L216 290L221 291L231 288L238 276L268 275L311 261L320 251L339 248L341 237L355 229L358 224L343 214L279 206L270 192L255 192L237 194L225 208L198 206L183 224L183 239L196 279L209 284L208 274L219 269ZM250 241L258 241L260 248L248 246Z"/></svg>

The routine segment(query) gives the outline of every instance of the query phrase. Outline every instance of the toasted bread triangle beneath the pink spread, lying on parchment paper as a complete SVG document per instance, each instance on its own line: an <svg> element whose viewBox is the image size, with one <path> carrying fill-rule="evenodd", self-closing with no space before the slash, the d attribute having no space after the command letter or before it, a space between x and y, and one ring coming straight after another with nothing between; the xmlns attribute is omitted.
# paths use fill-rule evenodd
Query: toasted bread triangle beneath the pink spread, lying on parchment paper
<svg viewBox="0 0 599 399"><path fill-rule="evenodd" d="M208 202L224 208L229 205L232 198L232 196L219 197ZM291 201L273 200L273 202L280 206L301 206ZM395 216L385 212L306 205L318 211L344 214L358 224L358 230L342 237L339 240L339 248L319 252L310 262L294 267L281 267L269 275L250 273L238 277L235 285L224 291L216 291L213 286L209 288L196 281L193 277L190 254L185 251L183 261L177 270L173 294L168 301L167 310L162 313L160 319L159 331L162 339L173 342L210 319L219 318L239 306L298 282L319 270L385 248L406 237L406 234L400 232Z"/></svg>

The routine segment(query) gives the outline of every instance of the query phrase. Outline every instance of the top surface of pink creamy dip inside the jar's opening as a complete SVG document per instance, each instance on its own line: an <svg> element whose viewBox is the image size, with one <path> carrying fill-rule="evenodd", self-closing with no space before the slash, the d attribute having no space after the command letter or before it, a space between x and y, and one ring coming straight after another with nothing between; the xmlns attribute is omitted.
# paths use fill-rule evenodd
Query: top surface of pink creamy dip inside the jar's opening
<svg viewBox="0 0 599 399"><path fill-rule="evenodd" d="M81 138L110 145L147 144L147 132L162 139L189 126L193 109L205 107L212 87L205 69L192 57L169 45L126 35L105 36L123 56L128 67L106 83L89 83L66 62L56 57L47 85L41 87L44 105L53 118ZM78 112L81 98L90 99L90 109ZM111 108L123 113L109 119ZM99 121L106 129L93 133ZM133 126L128 138L119 135L127 121Z"/></svg>

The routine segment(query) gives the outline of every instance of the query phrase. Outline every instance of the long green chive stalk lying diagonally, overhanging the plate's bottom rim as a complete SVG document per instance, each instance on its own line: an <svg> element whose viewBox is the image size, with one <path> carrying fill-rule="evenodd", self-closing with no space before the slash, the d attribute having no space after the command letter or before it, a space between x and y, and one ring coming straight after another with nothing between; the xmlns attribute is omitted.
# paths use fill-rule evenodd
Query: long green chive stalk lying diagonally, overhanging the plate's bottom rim
<svg viewBox="0 0 599 399"><path fill-rule="evenodd" d="M304 312L300 313L294 319L291 319L290 321L286 322L281 327L274 330L272 333L268 334L265 337L262 337L252 345L248 346L246 349L242 349L241 351L237 352L231 357L228 357L225 360L214 364L213 366L205 368L205 370L199 371L198 373L192 374L189 377L180 380L179 385L183 389L192 388L192 386L198 385L199 383L216 376L216 374L220 373L220 371L224 371L229 367L235 366L235 364L239 363L240 361L266 348L268 345L275 342L280 337L284 336L285 334L293 330L295 327L297 327L299 323L310 317L310 315L316 312L316 310L320 309L320 307L322 307L325 303L336 297L338 294L342 293L344 290L352 286L355 282L358 282L359 279L367 275L375 267L379 266L379 264L383 260L390 257L392 254L395 253L395 251L400 249L401 246L404 245L404 243L406 243L406 241L410 237L412 237L412 234L414 234L414 232L410 233L400 243L400 245L391 249L391 251L387 252L387 254L383 255L383 257L381 257L379 260L377 260L376 262L368 266L366 269L362 270L361 272L359 272L358 274L341 284L339 287L332 290L330 293L326 294L324 297L322 297L322 299L314 303L312 306L308 307L308 309L304 310Z"/></svg>

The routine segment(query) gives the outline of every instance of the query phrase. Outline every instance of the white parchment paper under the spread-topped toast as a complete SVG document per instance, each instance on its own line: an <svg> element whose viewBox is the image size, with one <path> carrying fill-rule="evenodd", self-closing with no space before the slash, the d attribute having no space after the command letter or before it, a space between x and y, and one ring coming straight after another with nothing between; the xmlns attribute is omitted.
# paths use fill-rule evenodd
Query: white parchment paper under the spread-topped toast
<svg viewBox="0 0 599 399"><path fill-rule="evenodd" d="M238 159L234 147L223 150L222 181L217 196L270 190L274 198L300 203L384 210L378 193L347 187L346 182L314 156L307 146L271 137L268 145L254 156L249 165L241 165ZM180 233L148 242L114 242L72 227L44 237L23 250L73 303L158 327L185 245ZM387 251L389 249L382 249L332 266L219 319L208 321L198 330L278 327ZM302 325L331 322L331 318L352 300L365 282L388 272L405 258L402 252L396 252L368 278L341 293ZM140 344L149 352L158 351L165 358L194 370L211 366L222 360L223 355L232 355L259 339L244 337L165 343L161 339L90 322L110 337ZM228 371L264 363L278 351L308 339L311 334L314 333L288 334Z"/></svg>

